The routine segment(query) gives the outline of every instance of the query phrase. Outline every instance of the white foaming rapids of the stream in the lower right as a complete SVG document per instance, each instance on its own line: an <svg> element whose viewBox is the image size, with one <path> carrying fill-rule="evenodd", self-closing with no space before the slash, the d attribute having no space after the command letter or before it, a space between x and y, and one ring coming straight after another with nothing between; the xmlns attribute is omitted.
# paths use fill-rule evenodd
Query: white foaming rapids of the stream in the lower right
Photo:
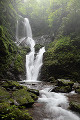
<svg viewBox="0 0 80 120"><path fill-rule="evenodd" d="M45 113L48 114L49 118L43 120L80 120L80 118L67 110L69 107L68 99L62 93L48 92L50 88L40 90L41 98L38 102L44 102Z"/></svg>

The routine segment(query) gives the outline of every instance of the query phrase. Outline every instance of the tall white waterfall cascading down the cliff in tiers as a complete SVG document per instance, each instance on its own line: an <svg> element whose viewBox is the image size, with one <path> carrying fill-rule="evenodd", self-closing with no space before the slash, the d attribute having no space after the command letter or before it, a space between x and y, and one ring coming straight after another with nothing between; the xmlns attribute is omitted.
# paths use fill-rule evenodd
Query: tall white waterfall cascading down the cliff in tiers
<svg viewBox="0 0 80 120"><path fill-rule="evenodd" d="M37 81L39 72L42 66L43 53L45 52L45 47L42 47L37 55L35 56L35 41L32 39L32 30L28 18L24 18L22 21L24 24L24 37L18 38L18 21L16 30L16 43L19 45L21 42L25 41L30 47L30 53L26 55L26 80L27 81Z"/></svg>

